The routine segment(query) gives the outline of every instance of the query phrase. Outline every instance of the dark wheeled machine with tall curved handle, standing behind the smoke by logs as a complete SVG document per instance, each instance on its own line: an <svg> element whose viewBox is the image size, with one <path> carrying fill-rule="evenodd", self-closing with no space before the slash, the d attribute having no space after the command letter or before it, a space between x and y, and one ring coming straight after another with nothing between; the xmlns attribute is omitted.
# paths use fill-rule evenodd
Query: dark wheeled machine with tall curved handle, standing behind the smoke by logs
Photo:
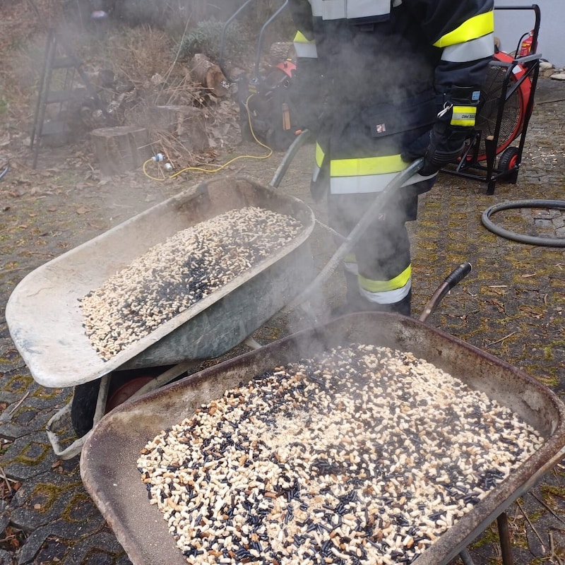
<svg viewBox="0 0 565 565"><path fill-rule="evenodd" d="M225 32L232 21L254 0L247 0L228 18L222 28L218 66L230 83L237 85L239 104L239 126L246 141L266 143L272 149L286 150L299 133L299 124L291 102L292 78L296 64L292 59L283 59L261 71L265 30L282 13L288 0L263 24L258 37L254 72L251 76L230 77L224 61Z"/></svg>

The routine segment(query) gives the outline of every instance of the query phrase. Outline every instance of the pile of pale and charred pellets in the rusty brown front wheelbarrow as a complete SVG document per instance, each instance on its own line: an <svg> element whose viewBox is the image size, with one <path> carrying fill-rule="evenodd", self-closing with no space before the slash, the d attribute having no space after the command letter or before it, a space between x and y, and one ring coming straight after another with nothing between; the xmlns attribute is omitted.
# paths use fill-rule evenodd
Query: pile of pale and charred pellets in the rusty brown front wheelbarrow
<svg viewBox="0 0 565 565"><path fill-rule="evenodd" d="M150 441L138 470L189 564L412 563L542 439L410 353L277 367Z"/></svg>

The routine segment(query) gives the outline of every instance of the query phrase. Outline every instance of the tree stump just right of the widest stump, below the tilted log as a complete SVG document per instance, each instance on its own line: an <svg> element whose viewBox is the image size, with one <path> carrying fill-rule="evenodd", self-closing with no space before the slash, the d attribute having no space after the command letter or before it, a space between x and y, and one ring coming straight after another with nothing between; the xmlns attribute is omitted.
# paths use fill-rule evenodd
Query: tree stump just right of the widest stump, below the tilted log
<svg viewBox="0 0 565 565"><path fill-rule="evenodd" d="M210 148L206 121L201 109L194 106L155 106L151 116L151 138L160 130L173 133L184 149L198 153Z"/></svg>

